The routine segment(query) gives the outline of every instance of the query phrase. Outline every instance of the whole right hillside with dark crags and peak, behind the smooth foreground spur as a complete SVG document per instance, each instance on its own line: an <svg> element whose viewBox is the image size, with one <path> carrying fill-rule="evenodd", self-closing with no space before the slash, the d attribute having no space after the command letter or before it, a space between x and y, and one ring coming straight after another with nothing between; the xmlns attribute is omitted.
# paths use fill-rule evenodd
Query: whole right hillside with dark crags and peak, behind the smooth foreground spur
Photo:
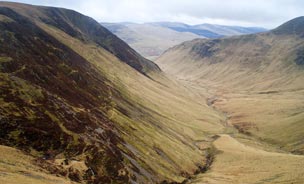
<svg viewBox="0 0 304 184"><path fill-rule="evenodd" d="M303 17L260 34L196 39L168 50L157 63L227 113L240 132L304 153Z"/></svg>

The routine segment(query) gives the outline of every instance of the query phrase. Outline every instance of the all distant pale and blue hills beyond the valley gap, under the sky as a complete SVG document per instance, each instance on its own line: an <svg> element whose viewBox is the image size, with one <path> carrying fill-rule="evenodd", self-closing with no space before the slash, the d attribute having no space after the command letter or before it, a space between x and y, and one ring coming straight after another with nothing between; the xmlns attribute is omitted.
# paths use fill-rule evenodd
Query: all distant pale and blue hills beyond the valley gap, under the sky
<svg viewBox="0 0 304 184"><path fill-rule="evenodd" d="M266 31L259 27L214 24L192 26L179 22L101 24L149 59L157 58L166 49L195 38L220 38Z"/></svg>

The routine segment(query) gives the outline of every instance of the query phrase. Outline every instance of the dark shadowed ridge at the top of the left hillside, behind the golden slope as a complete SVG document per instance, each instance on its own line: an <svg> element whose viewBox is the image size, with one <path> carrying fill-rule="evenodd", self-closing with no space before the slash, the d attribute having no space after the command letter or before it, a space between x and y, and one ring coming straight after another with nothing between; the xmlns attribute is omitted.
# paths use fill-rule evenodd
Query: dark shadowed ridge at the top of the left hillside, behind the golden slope
<svg viewBox="0 0 304 184"><path fill-rule="evenodd" d="M14 4L7 6L13 6L13 8L19 10L21 14L27 16L27 12L24 12L23 5L18 5L18 7ZM111 34L107 29L100 26L90 17L81 15L75 11L58 8L40 7L39 12L37 12L37 10L32 11L32 15L28 16L37 16L34 17L36 18L35 20L38 19L40 22L54 26L68 35L84 42L94 42L141 73L159 71L158 67L154 63L141 57L125 42Z"/></svg>

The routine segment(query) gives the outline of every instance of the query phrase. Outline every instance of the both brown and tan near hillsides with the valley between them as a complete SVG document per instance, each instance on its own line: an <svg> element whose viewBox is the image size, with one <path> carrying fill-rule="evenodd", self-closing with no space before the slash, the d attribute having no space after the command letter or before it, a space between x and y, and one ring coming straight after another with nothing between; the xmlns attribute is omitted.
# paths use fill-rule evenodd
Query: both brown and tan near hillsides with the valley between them
<svg viewBox="0 0 304 184"><path fill-rule="evenodd" d="M0 183L303 183L303 27L154 63L76 11L0 2Z"/></svg>

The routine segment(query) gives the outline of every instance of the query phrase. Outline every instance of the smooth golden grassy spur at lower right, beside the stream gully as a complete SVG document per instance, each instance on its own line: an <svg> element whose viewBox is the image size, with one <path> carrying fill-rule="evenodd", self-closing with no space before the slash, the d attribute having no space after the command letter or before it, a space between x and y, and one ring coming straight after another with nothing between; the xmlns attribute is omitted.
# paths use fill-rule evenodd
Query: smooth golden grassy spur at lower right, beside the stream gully
<svg viewBox="0 0 304 184"><path fill-rule="evenodd" d="M229 135L214 142L220 151L212 168L191 183L253 184L304 182L304 156L275 153L244 145Z"/></svg>

